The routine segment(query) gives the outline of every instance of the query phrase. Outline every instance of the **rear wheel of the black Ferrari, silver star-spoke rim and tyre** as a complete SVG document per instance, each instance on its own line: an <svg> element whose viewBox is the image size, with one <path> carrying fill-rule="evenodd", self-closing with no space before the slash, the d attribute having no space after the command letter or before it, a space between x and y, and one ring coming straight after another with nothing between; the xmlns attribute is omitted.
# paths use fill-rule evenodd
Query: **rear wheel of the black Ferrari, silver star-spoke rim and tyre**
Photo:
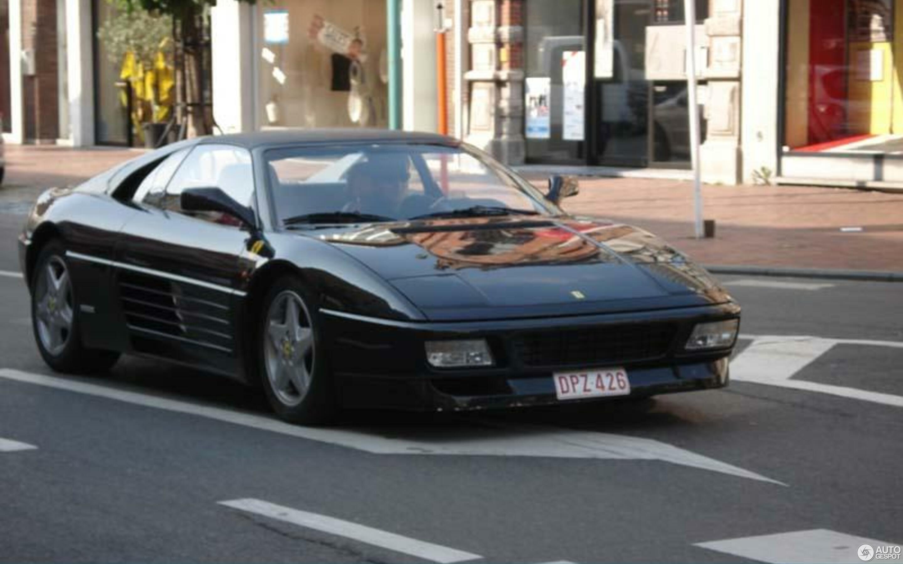
<svg viewBox="0 0 903 564"><path fill-rule="evenodd" d="M79 292L60 241L41 250L30 287L34 340L47 365L57 372L86 374L106 372L116 364L119 353L81 344Z"/></svg>

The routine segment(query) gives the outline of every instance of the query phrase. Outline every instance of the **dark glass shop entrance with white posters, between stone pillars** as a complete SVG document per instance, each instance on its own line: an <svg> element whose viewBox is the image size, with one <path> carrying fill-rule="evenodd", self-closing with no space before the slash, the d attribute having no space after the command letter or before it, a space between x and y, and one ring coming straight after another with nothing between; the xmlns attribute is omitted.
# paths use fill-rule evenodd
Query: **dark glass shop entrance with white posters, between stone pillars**
<svg viewBox="0 0 903 564"><path fill-rule="evenodd" d="M696 4L702 22L708 2ZM526 3L527 161L689 167L683 5L684 0Z"/></svg>

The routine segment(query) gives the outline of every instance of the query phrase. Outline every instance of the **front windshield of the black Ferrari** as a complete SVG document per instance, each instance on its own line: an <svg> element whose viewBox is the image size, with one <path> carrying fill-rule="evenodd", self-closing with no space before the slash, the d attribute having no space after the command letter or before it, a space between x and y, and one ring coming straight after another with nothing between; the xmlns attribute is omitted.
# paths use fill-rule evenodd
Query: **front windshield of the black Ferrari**
<svg viewBox="0 0 903 564"><path fill-rule="evenodd" d="M458 147L367 144L265 153L284 226L561 213L498 162Z"/></svg>

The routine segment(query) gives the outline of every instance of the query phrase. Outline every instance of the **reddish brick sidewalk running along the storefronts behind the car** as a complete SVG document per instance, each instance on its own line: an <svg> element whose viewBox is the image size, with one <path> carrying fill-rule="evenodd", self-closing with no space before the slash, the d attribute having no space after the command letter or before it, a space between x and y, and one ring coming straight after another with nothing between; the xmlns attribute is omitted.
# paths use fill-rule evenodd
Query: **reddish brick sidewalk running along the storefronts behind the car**
<svg viewBox="0 0 903 564"><path fill-rule="evenodd" d="M86 180L135 149L6 145L0 211L24 213L41 190ZM545 186L545 180L532 177ZM564 207L645 227L704 264L903 272L903 195L790 186L705 186L714 239L694 239L690 182L582 179ZM841 227L862 227L842 233Z"/></svg>

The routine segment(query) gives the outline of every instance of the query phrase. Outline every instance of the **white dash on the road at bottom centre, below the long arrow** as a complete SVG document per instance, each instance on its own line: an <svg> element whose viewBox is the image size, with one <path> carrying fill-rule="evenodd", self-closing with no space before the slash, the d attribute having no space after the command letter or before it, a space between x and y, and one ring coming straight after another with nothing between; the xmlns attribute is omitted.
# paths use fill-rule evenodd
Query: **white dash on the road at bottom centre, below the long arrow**
<svg viewBox="0 0 903 564"><path fill-rule="evenodd" d="M471 554L463 550L450 549L432 542L417 541L394 532L380 531L356 522L342 521L319 513L299 511L259 499L236 499L219 502L219 504L442 564L482 558L478 554Z"/></svg>

